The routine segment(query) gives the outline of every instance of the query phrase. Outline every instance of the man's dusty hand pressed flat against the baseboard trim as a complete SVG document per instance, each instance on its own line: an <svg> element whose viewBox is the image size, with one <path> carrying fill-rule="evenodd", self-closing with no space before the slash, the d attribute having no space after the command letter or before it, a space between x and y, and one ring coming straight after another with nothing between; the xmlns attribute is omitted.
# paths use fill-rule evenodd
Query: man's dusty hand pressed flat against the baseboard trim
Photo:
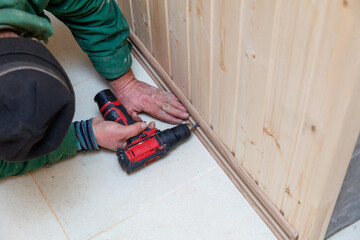
<svg viewBox="0 0 360 240"><path fill-rule="evenodd" d="M174 94L138 81L131 69L109 84L135 121L141 121L138 116L140 112L173 124L180 124L189 117L189 113Z"/></svg>

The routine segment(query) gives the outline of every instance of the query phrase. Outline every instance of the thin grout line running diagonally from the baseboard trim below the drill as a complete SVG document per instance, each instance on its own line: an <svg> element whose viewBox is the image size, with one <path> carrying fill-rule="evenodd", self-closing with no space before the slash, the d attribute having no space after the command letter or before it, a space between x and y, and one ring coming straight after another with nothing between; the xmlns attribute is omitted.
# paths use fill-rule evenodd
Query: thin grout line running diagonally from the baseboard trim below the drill
<svg viewBox="0 0 360 240"><path fill-rule="evenodd" d="M93 235L92 237L88 238L88 240L94 239L95 237L97 237L97 236L99 236L99 235L103 234L104 232L106 232L106 231L110 230L111 228L115 227L116 225L119 225L120 223L125 222L126 220L128 220L128 219L132 218L133 216L135 216L135 215L137 215L137 214L141 213L141 212L142 212L142 211L144 211L145 209L147 209L147 208L149 208L149 207L151 207L151 206L153 206L153 205L155 205L155 204L157 204L157 203L159 203L159 202L161 202L161 201L165 200L166 198L168 198L168 197L170 197L171 195L173 195L173 194L177 193L177 192L178 192L178 191L180 191L181 189L183 189L183 188L185 188L185 187L187 187L187 186L189 186L189 185L193 184L194 182L198 181L199 179L201 179L201 178L203 178L203 177L205 177L205 176L209 175L210 173L212 173L212 172L214 172L214 171L216 171L216 170L218 170L218 169L219 169L219 166L216 166L216 167L214 167L213 169L211 169L211 170L209 170L209 171L207 171L207 172L203 173L202 175L197 176L196 178L192 179L190 182L185 183L184 185L182 185L182 186L178 187L177 189L175 189L175 190L173 190L173 191L171 191L171 192L169 192L169 193L165 194L164 196L160 197L159 199L157 199L157 200L155 200L155 201L153 201L153 202L151 202L151 203L149 203L149 204L145 205L144 207L142 207L142 208L140 208L140 209L136 210L135 212L133 212L132 214L130 214L130 215L128 215L128 216L126 216L125 218L121 219L120 221L115 222L114 224L110 225L109 227L107 227L107 228L105 228L105 229L101 230L100 232L96 233L96 234L95 234L95 235Z"/></svg>

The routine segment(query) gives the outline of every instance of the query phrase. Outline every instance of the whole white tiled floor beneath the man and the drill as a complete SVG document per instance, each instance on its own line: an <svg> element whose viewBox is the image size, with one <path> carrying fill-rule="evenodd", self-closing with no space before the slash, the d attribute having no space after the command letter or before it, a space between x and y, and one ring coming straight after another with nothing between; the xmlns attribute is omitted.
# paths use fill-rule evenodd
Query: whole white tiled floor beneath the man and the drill
<svg viewBox="0 0 360 240"><path fill-rule="evenodd" d="M75 120L100 116L107 88L69 31L54 22L49 49L68 72ZM134 60L135 75L154 83ZM149 116L142 116L150 120ZM157 121L157 127L170 125ZM275 239L199 140L127 175L115 153L80 153L0 181L0 239Z"/></svg>

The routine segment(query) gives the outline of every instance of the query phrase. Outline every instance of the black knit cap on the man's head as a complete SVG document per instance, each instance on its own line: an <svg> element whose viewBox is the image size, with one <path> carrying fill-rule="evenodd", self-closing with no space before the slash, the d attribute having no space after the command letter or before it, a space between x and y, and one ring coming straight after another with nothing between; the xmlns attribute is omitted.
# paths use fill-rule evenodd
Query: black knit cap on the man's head
<svg viewBox="0 0 360 240"><path fill-rule="evenodd" d="M71 82L43 44L0 38L0 159L23 162L56 150L74 111Z"/></svg>

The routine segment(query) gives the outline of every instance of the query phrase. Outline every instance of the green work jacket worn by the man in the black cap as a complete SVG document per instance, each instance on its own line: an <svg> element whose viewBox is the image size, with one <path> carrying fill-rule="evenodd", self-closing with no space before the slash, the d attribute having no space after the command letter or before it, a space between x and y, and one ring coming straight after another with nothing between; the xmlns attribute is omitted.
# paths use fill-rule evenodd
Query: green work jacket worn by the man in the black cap
<svg viewBox="0 0 360 240"><path fill-rule="evenodd" d="M129 27L114 0L1 0L0 29L12 29L24 37L46 42L54 30L44 10L69 27L104 78L116 79L130 69ZM27 162L0 160L0 178L52 165L76 152L77 140L71 125L61 146L50 154Z"/></svg>

